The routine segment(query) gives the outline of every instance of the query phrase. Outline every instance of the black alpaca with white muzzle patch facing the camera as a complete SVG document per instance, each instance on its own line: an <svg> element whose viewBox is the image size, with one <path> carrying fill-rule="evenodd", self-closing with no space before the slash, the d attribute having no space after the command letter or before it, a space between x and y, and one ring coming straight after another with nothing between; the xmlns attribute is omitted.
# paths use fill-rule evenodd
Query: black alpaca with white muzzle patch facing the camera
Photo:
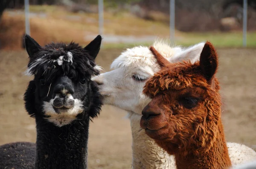
<svg viewBox="0 0 256 169"><path fill-rule="evenodd" d="M97 36L85 48L73 42L42 47L25 36L29 54L26 73L35 77L29 82L24 100L27 112L36 121L36 149L31 143L19 143L29 152L23 159L29 164L24 166L19 158L8 159L22 153L20 148L9 148L17 143L4 145L7 151L3 154L0 147L0 169L87 168L89 122L102 106L98 88L90 80L99 74L94 60L101 40L102 37Z"/></svg>

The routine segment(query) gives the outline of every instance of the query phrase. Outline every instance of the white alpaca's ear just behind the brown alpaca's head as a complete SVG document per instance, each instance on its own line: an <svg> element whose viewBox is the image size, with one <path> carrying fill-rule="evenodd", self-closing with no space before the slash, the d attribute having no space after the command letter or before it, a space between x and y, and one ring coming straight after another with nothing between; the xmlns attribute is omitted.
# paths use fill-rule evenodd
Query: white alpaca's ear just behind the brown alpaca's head
<svg viewBox="0 0 256 169"><path fill-rule="evenodd" d="M168 58L169 62L182 62L183 60L188 61L190 60L192 63L199 61L200 54L204 48L205 42L198 43L193 45L185 50L181 51L180 53Z"/></svg>

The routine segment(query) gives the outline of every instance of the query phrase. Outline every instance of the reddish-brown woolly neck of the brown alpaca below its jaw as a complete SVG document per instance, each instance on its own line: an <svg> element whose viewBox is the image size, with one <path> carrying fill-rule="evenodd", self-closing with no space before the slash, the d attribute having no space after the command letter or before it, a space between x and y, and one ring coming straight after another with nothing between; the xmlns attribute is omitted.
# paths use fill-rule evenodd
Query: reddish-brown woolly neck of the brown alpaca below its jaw
<svg viewBox="0 0 256 169"><path fill-rule="evenodd" d="M186 156L175 154L177 169L228 169L231 161L224 138L223 126L219 126L219 137L207 152L190 153Z"/></svg>

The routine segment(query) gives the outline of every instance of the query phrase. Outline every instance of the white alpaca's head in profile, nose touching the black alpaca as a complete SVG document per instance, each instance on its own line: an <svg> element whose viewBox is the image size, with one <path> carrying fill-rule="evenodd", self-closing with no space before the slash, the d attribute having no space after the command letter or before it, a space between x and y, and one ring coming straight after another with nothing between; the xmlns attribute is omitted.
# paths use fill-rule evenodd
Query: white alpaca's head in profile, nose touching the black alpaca
<svg viewBox="0 0 256 169"><path fill-rule="evenodd" d="M164 42L154 42L154 48L170 62L199 59L204 42L189 48L171 47ZM93 77L104 96L104 104L110 104L129 112L141 114L151 101L143 95L143 87L159 66L148 47L138 46L122 52L111 64L111 71Z"/></svg>

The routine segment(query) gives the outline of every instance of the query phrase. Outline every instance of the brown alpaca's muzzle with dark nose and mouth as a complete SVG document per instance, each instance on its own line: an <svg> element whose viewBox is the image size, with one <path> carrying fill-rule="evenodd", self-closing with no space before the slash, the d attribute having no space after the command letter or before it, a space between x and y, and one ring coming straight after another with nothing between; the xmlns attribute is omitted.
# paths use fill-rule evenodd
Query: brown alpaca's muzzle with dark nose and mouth
<svg viewBox="0 0 256 169"><path fill-rule="evenodd" d="M163 109L149 103L144 107L142 115L140 127L145 129L148 136L151 138L165 137L164 133L168 133L168 118Z"/></svg>

